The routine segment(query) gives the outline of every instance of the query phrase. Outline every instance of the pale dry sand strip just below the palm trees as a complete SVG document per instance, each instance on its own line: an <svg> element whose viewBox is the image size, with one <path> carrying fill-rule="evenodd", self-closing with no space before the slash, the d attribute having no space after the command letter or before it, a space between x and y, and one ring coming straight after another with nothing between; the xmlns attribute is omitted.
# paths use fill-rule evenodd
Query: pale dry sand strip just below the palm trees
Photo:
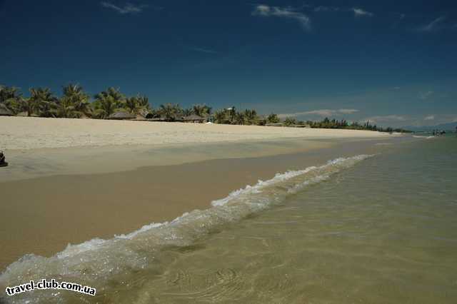
<svg viewBox="0 0 457 304"><path fill-rule="evenodd" d="M272 138L378 138L373 131L96 119L0 117L5 151L74 146L214 143Z"/></svg>

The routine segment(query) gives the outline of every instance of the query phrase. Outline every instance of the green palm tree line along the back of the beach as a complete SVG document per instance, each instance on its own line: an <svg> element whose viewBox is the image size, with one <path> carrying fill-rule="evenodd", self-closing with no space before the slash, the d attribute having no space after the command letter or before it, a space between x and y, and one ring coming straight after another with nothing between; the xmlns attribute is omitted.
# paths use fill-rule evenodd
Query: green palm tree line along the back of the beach
<svg viewBox="0 0 457 304"><path fill-rule="evenodd" d="M78 84L70 83L62 88L61 96L56 96L49 88L30 88L29 97L24 96L19 88L0 85L0 107L14 115L55 118L97 118L105 119L116 112L126 112L148 118L160 118L164 121L179 121L183 116L196 115L214 123L233 125L264 126L282 123L283 126L303 126L311 128L346 128L383 132L406 132L400 128L381 128L371 124L324 118L322 121L297 121L296 118L281 120L275 113L260 116L254 109L238 111L234 106L212 111L210 106L195 104L182 108L177 103L160 104L153 108L148 97L137 94L126 96L119 88L109 87L105 91L91 96Z"/></svg>

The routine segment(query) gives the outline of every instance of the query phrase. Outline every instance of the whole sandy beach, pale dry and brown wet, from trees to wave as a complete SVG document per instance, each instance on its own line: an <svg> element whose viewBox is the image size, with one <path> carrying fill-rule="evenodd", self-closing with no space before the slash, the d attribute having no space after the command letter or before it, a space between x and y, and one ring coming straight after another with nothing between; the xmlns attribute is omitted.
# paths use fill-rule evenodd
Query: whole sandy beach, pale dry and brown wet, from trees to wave
<svg viewBox="0 0 457 304"><path fill-rule="evenodd" d="M0 128L5 131L0 148L10 163L0 171L5 216L0 240L9 243L0 266L26 253L50 256L68 243L171 221L259 179L351 156L373 140L392 137L371 131L20 117L1 117Z"/></svg>

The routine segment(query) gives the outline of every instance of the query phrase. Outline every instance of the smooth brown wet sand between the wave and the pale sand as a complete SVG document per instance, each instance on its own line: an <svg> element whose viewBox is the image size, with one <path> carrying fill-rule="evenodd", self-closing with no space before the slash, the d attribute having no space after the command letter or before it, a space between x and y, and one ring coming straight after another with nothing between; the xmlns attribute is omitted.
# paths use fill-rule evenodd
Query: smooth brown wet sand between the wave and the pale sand
<svg viewBox="0 0 457 304"><path fill-rule="evenodd" d="M331 158L374 151L381 147L376 146L378 142L309 141L304 146L296 141L288 145L282 142L289 153L284 148L278 150L283 152L279 155L266 153L278 153L273 148L261 152L262 147L274 146L272 142L244 143L232 146L231 151L222 146L225 153L215 152L224 159L209 158L211 154L204 152L211 151L207 146L184 150L175 147L160 152L168 155L163 158L164 163L169 162L167 166L55 175L57 168L50 176L0 183L2 201L7 202L0 204L0 243L4 248L0 269L26 253L51 256L68 243L112 238L149 223L171 221L185 212L209 208L211 201L258 179L266 180L275 173L303 169ZM189 149L191 153L184 153ZM267 156L253 157L262 153ZM141 160L141 153L129 154L130 158L136 156ZM199 157L192 156L209 160L199 161ZM112 164L109 154L106 159ZM173 161L181 163L170 164ZM91 162L92 166L96 163Z"/></svg>

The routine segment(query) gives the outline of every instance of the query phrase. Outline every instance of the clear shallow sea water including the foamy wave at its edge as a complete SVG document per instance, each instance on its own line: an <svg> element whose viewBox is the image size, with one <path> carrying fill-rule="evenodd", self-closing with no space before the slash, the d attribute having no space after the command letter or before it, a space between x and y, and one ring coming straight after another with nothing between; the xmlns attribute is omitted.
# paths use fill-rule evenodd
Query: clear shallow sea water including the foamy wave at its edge
<svg viewBox="0 0 457 304"><path fill-rule="evenodd" d="M283 173L171 223L26 256L0 285L97 288L7 299L17 302L456 303L456 165L457 138L414 138Z"/></svg>

